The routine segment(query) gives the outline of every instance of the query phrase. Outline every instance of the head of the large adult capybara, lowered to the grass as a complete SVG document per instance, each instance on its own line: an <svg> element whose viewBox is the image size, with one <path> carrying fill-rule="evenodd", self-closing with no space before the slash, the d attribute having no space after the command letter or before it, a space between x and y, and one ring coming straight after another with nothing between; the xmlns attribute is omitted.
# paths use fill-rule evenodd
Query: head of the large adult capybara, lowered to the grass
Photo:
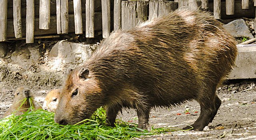
<svg viewBox="0 0 256 140"><path fill-rule="evenodd" d="M70 69L60 91L60 101L56 108L56 123L76 124L90 118L93 112L104 103L99 81L86 66Z"/></svg>

